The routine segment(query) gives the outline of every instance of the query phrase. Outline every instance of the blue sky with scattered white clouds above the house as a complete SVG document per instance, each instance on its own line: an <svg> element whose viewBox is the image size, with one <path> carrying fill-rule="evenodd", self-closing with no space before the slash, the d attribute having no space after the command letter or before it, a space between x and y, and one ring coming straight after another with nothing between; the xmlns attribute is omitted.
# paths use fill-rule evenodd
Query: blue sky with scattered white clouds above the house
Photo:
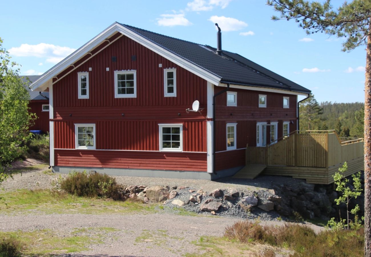
<svg viewBox="0 0 371 257"><path fill-rule="evenodd" d="M332 1L341 4L342 1ZM365 46L342 52L342 39L306 35L265 0L4 1L3 47L21 75L43 74L115 21L236 52L302 85L318 102L364 102Z"/></svg>

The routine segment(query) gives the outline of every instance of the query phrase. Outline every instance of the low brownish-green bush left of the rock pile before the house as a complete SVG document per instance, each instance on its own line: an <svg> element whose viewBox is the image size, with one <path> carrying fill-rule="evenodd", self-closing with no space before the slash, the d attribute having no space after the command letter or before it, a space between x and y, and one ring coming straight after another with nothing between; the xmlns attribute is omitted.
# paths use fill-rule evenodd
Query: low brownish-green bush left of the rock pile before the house
<svg viewBox="0 0 371 257"><path fill-rule="evenodd" d="M122 187L107 174L91 172L72 172L60 182L60 188L77 196L103 197L125 200Z"/></svg>

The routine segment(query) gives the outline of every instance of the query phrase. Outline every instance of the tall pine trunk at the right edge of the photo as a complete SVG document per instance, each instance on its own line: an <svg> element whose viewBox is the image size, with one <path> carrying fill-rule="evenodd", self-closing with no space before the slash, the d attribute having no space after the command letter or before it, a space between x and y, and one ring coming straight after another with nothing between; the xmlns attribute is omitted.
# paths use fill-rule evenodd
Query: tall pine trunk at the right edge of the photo
<svg viewBox="0 0 371 257"><path fill-rule="evenodd" d="M371 36L367 38L365 77L365 257L371 257Z"/></svg>

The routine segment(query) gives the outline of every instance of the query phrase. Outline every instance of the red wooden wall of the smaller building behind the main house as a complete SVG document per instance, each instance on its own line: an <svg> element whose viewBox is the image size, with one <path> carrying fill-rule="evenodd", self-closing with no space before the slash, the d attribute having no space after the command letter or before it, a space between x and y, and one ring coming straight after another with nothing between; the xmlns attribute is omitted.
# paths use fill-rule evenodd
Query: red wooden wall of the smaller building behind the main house
<svg viewBox="0 0 371 257"><path fill-rule="evenodd" d="M49 111L42 111L42 105L49 104L48 100L32 100L29 103L30 113L35 113L37 119L30 130L42 130L44 133L49 132Z"/></svg>

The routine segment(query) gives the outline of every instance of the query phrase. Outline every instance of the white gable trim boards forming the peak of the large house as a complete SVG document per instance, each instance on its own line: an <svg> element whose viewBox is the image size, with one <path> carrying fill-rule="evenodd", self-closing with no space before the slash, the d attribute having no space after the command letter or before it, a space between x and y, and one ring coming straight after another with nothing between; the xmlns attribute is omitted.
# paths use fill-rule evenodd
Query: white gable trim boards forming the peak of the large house
<svg viewBox="0 0 371 257"><path fill-rule="evenodd" d="M221 77L219 77L218 75L210 71L207 71L204 68L201 68L200 66L194 64L193 62L190 62L176 55L175 53L163 48L162 46L157 45L156 43L128 29L127 27L122 26L118 22L115 22L114 24L109 26L107 29L105 29L103 32L101 32L99 35L97 35L95 38L91 39L88 43L81 46L75 52L73 52L72 54L67 56L65 59L63 59L61 62L59 62L58 64L53 66L51 69L46 71L43 75L41 75L38 79L36 79L36 81L34 81L30 85L30 87L32 88L32 90L36 90L37 88L40 88L41 90L45 90L48 82L52 81L53 77L58 75L60 72L64 71L70 65L74 64L76 61L78 61L83 56L85 56L86 53L88 53L89 51L92 51L94 48L99 46L105 39L111 37L116 32L122 33L128 38L131 38L135 42L138 42L139 44L147 47L148 49L154 51L155 53L158 53L159 55L165 57L171 62L174 62L175 64L181 66L182 68L187 69L188 71L196 74L197 76L203 79L206 79L207 81L213 84L216 84L216 85L219 84Z"/></svg>

